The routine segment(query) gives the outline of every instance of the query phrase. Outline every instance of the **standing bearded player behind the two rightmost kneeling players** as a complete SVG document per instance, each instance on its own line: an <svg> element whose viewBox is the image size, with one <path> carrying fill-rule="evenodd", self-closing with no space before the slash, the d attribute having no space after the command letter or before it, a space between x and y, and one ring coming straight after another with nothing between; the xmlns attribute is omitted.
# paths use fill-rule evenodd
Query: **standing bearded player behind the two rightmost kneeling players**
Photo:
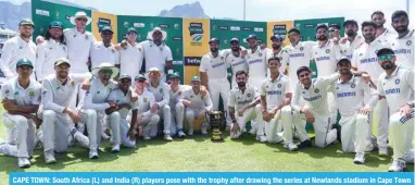
<svg viewBox="0 0 415 185"><path fill-rule="evenodd" d="M382 69L378 64L378 58L376 51L388 47L387 42L381 40L376 40L376 24L374 22L363 22L362 23L362 33L365 38L363 42L353 54L352 67L357 71L366 72L369 76L373 77L373 82L378 83L378 76L382 73ZM365 97L365 103L367 104L370 97ZM376 116L374 116L374 114ZM377 145L379 147L380 156L388 156L388 104L385 99L378 101L374 109L374 114L369 115L370 127L368 130L369 135L372 135L373 123L378 124L378 136Z"/></svg>

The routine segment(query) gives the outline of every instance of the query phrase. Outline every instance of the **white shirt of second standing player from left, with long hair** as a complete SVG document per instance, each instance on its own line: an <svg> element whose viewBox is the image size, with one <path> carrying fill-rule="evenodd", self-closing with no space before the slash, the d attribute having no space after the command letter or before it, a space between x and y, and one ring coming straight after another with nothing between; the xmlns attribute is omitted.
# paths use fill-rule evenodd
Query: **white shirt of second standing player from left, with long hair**
<svg viewBox="0 0 415 185"><path fill-rule="evenodd" d="M37 81L42 81L43 77L54 74L54 62L56 62L59 58L67 59L66 45L55 41L54 39L49 39L37 46Z"/></svg>

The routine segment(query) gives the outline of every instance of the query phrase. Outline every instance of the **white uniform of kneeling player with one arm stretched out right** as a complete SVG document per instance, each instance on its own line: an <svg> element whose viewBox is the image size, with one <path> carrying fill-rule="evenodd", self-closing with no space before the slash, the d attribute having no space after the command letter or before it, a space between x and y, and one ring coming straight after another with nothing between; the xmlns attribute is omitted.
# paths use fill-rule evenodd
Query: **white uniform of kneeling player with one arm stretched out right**
<svg viewBox="0 0 415 185"><path fill-rule="evenodd" d="M295 84L295 90L291 101L293 112L293 123L299 134L300 140L307 139L305 131L305 114L300 113L300 97L305 100L305 107L314 115L315 145L324 148L337 139L337 130L330 130L334 123L330 121L330 111L327 102L328 86L339 78L339 74L323 76L312 79L312 85L306 89L302 84Z"/></svg>

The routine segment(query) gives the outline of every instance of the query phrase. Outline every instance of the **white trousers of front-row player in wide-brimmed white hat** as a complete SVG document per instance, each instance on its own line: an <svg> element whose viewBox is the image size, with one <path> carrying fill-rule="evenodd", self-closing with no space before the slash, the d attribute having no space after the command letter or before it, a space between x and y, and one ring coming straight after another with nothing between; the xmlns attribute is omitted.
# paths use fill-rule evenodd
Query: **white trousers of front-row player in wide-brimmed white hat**
<svg viewBox="0 0 415 185"><path fill-rule="evenodd" d="M104 112L97 112L92 109L81 109L80 110L80 122L87 124L88 138L89 138L89 149L98 149L101 144L101 132L102 126L105 125L105 121L102 119ZM113 112L108 115L108 127L111 130L111 135L113 136L113 144L120 145L120 113Z"/></svg>

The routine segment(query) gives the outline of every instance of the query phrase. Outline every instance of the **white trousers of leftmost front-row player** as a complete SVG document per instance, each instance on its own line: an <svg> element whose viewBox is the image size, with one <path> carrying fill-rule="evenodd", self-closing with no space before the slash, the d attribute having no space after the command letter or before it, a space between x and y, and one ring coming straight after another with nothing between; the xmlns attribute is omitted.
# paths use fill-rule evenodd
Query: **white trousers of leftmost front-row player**
<svg viewBox="0 0 415 185"><path fill-rule="evenodd" d="M35 149L35 122L22 115L9 114L5 111L2 121L8 132L4 155L29 158Z"/></svg>

